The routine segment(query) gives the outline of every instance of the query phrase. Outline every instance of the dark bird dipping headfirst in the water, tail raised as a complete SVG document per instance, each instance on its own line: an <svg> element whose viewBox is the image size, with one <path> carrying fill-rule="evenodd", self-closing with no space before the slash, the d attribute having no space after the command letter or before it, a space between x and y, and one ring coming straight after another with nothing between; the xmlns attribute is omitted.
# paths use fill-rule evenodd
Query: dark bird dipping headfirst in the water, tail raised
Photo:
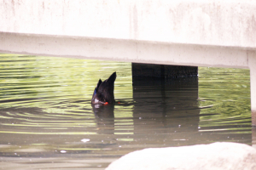
<svg viewBox="0 0 256 170"><path fill-rule="evenodd" d="M113 96L113 83L116 78L116 72L108 77L107 80L102 82L100 79L93 94L91 103L92 104L113 104L114 103L114 96Z"/></svg>

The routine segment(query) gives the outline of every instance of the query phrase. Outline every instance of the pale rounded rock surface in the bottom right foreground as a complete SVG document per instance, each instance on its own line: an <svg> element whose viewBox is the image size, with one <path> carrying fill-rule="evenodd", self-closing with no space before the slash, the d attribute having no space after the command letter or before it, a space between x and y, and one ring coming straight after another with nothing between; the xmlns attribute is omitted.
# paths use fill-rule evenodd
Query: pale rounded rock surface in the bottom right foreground
<svg viewBox="0 0 256 170"><path fill-rule="evenodd" d="M247 144L213 143L131 152L106 170L254 170L256 150Z"/></svg>

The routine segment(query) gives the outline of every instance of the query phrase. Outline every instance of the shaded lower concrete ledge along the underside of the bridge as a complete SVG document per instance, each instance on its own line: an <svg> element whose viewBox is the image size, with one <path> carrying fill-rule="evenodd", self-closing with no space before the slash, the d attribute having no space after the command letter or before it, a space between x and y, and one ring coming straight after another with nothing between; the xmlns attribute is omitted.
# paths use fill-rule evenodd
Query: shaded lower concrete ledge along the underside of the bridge
<svg viewBox="0 0 256 170"><path fill-rule="evenodd" d="M0 52L162 65L248 68L247 49L0 32Z"/></svg>

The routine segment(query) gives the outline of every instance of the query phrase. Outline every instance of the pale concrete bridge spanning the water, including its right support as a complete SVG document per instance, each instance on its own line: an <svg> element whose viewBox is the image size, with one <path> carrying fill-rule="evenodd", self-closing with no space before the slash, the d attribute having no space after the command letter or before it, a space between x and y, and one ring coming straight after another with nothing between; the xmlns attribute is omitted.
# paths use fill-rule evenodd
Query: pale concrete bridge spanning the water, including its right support
<svg viewBox="0 0 256 170"><path fill-rule="evenodd" d="M0 0L0 52L250 69L256 126L251 0Z"/></svg>

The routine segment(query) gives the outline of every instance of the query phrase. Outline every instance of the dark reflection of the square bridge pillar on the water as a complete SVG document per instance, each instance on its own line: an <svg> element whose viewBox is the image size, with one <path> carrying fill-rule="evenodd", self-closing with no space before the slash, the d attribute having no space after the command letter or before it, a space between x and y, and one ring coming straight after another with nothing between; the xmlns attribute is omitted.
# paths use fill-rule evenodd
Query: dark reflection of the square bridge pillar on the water
<svg viewBox="0 0 256 170"><path fill-rule="evenodd" d="M150 147L197 143L197 77L168 81L133 78L133 99L134 132L139 141L153 144Z"/></svg>

